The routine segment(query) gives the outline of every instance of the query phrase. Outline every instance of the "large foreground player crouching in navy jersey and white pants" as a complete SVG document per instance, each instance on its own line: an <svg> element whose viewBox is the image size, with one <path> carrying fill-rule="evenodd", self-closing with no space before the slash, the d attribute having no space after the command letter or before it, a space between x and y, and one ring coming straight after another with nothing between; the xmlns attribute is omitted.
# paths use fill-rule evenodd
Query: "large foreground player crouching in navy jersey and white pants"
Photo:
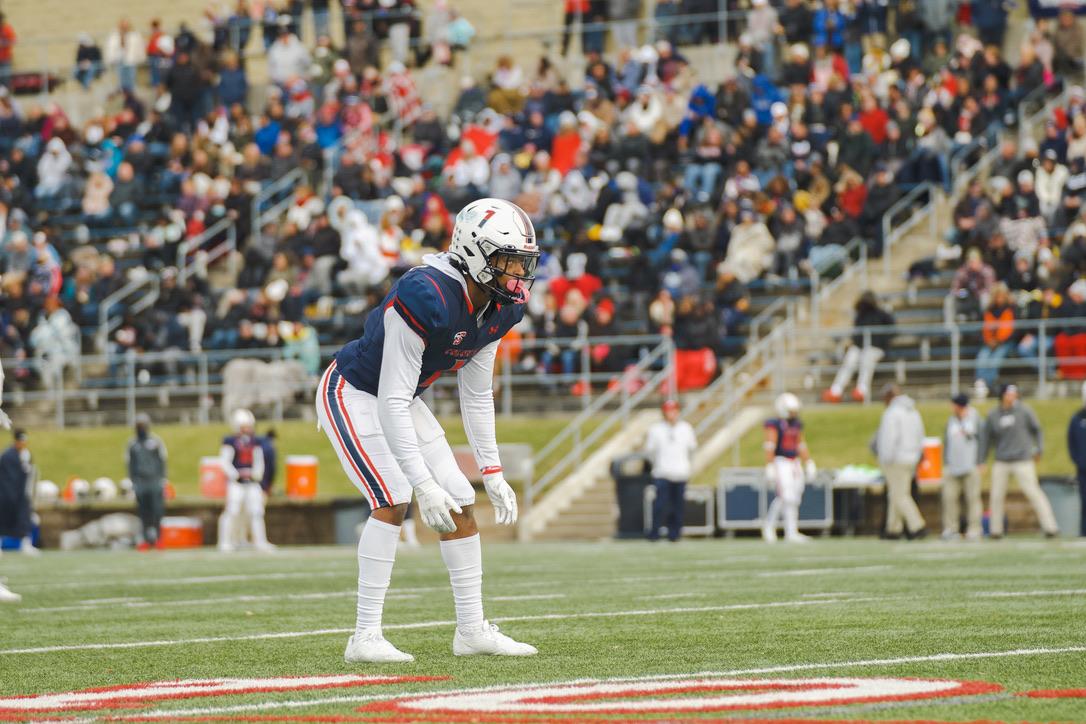
<svg viewBox="0 0 1086 724"><path fill-rule="evenodd" d="M355 633L344 659L406 662L414 657L381 633L384 594L400 526L411 503L441 538L456 606L456 656L531 656L487 621L475 491L445 433L419 395L455 371L460 415L500 524L517 521L517 499L502 473L492 389L498 341L520 321L540 251L528 215L500 199L456 215L450 251L424 257L366 318L317 388L317 420L372 513L358 539Z"/></svg>

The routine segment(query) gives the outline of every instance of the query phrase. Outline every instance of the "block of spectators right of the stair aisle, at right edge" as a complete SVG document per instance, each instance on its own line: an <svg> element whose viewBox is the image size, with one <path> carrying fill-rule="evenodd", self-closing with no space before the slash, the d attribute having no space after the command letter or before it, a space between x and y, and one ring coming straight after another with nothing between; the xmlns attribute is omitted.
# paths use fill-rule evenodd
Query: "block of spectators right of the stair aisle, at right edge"
<svg viewBox="0 0 1086 724"><path fill-rule="evenodd" d="M1049 376L1086 378L1086 92L1075 85L1066 97L1040 142L1003 140L986 182L954 209L952 314L981 326L985 390L1008 358L1037 369L1045 357Z"/></svg>

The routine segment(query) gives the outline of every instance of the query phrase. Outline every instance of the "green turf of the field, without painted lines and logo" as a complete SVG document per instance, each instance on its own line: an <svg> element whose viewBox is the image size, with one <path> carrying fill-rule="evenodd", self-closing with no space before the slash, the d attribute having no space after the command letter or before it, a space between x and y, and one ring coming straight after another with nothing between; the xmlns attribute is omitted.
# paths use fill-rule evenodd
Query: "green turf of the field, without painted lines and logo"
<svg viewBox="0 0 1086 724"><path fill-rule="evenodd" d="M7 555L0 559L0 573L24 600L0 605L0 695L222 676L392 673L451 677L359 689L163 701L137 712L262 703L269 708L231 715L355 717L361 716L358 702L275 704L375 694L394 698L409 691L580 677L1086 646L1086 547L1078 542L1015 538L950 545L834 539L799 547L769 547L749 539L679 545L509 544L485 546L483 554L490 617L557 617L503 624L506 632L535 644L538 657L452 656L452 597L446 572L432 547L402 550L399 556L386 612L387 634L417 661L397 666L349 666L342 661L346 633L341 630L351 627L354 620L356 561L351 548L287 549L263 557L219 556L207 550L47 552L38 559ZM982 595L990 592L1033 595ZM567 614L572 618L564 620ZM401 627L404 624L422 625ZM16 652L277 632L314 633ZM830 665L763 675L949 677L996 683L1005 693L730 715L1086 721L1086 699L1011 696L1034 689L1081 688L1086 682L1086 653L1082 651ZM212 717L218 721L226 715L218 712ZM631 717L639 716L621 719Z"/></svg>

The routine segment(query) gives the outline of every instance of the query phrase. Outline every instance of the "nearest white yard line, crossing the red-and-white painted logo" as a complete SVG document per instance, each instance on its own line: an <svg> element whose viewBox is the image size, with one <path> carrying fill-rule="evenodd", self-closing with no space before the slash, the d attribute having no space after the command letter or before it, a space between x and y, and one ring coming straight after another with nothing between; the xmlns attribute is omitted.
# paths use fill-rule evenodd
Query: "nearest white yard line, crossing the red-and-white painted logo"
<svg viewBox="0 0 1086 724"><path fill-rule="evenodd" d="M923 663L929 661L969 661L973 659L999 659L1006 657L1022 657L1022 656L1056 656L1061 653L1082 653L1086 652L1086 646L1064 646L1064 647L1053 647L1053 648L1033 648L1033 649L1009 649L1002 651L973 651L964 653L932 653L923 656L911 656L911 657L897 657L891 659L866 659L860 661L836 661L836 662L811 662L811 663L794 663L784 664L780 666L768 666L761 669L735 669L732 671L719 671L719 672L694 672L689 674L665 674L665 675L651 675L651 676L629 676L629 677L613 677L603 679L573 679L565 682L546 682L538 684L502 684L497 686L484 686L477 688L453 688L444 689L438 691L426 691L426 693L412 693L412 694L369 694L359 696L344 696L344 697L327 697L324 699L298 699L298 700L287 700L287 701L265 701L260 703L250 704L235 704L231 707L202 707L193 709L167 709L157 710L150 712L140 712L138 714L132 714L131 716L121 716L119 719L173 719L177 716L214 716L218 714L230 714L247 711L274 711L276 709L298 709L298 708L310 708L310 707L320 707L327 704L339 704L339 703L364 703L366 701L378 701L382 699L394 699L400 696L439 696L443 694L475 694L492 691L495 689L507 689L513 686L516 688L529 688L529 687L548 687L548 686L560 686L570 684L581 684L591 681L601 681L605 683L636 683L645 681L656 681L664 678L699 678L708 676L743 676L750 674L779 674L779 673L790 673L797 671L815 671L819 669L853 669L857 666L895 666L906 663ZM930 703L930 701L927 702Z"/></svg>

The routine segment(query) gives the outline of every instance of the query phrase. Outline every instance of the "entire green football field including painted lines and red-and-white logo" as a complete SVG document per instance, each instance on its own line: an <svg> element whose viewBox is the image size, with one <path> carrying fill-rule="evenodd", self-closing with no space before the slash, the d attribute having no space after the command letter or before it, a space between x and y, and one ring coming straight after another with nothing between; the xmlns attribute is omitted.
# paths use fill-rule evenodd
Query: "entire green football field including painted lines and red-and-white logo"
<svg viewBox="0 0 1086 724"><path fill-rule="evenodd" d="M352 548L4 555L0 721L1086 721L1086 542L483 545L536 657L453 657L433 546L354 666Z"/></svg>

